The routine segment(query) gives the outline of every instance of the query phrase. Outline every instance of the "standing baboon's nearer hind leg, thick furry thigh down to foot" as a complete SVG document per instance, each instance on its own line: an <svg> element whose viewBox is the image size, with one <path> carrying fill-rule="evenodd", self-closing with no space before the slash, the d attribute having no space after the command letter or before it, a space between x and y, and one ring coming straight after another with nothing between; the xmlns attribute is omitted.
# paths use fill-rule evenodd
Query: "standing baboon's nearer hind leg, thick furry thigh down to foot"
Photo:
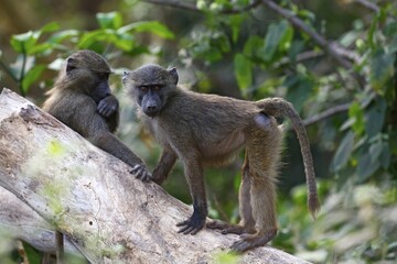
<svg viewBox="0 0 397 264"><path fill-rule="evenodd" d="M277 125L269 130L253 129L247 136L250 206L256 232L243 234L232 245L233 251L244 252L262 246L277 234L276 180L281 140L282 134Z"/></svg>

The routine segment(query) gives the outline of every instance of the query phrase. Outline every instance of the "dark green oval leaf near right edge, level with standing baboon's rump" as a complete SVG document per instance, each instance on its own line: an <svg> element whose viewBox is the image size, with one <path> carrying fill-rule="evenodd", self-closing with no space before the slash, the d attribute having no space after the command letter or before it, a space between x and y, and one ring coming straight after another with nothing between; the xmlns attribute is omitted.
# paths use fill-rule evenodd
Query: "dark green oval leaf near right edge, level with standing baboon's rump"
<svg viewBox="0 0 397 264"><path fill-rule="evenodd" d="M378 134L385 123L387 103L385 98L377 97L365 112L365 131L368 138Z"/></svg>

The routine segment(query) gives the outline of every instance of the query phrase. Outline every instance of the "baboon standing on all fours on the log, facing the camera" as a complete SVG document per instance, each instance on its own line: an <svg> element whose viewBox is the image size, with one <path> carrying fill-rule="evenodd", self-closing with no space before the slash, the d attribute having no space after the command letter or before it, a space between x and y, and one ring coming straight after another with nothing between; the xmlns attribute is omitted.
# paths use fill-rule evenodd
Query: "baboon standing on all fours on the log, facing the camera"
<svg viewBox="0 0 397 264"><path fill-rule="evenodd" d="M161 143L163 152L152 173L161 184L176 157L184 165L193 215L178 223L179 232L195 234L207 216L203 167L224 165L245 145L245 163L239 189L239 224L221 221L207 228L223 233L242 234L232 250L265 245L277 234L276 180L282 129L276 117L291 119L301 145L307 184L308 207L313 217L320 210L310 144L302 121L292 105L281 98L259 101L203 95L178 87L175 68L146 65L124 75L122 82L138 105L138 116Z"/></svg>

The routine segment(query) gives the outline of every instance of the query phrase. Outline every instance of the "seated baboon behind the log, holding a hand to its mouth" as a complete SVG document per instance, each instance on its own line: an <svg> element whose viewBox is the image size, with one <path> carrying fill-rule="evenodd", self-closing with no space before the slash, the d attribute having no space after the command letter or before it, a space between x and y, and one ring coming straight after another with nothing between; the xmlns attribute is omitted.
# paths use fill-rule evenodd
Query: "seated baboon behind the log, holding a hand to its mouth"
<svg viewBox="0 0 397 264"><path fill-rule="evenodd" d="M66 58L43 110L90 143L131 166L131 174L149 180L144 163L112 133L119 122L118 100L111 95L110 66L99 54L78 51ZM56 232L57 260L62 263L63 235Z"/></svg>

